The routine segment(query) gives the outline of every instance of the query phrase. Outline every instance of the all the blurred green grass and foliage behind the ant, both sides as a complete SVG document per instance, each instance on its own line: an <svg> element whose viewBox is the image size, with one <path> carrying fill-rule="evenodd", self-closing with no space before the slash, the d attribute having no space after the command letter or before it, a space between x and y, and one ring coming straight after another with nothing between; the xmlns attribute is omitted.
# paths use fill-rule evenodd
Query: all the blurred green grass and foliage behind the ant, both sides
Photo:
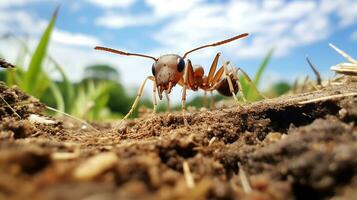
<svg viewBox="0 0 357 200"><path fill-rule="evenodd" d="M16 39L22 46L22 50L18 52L16 63L14 63L16 68L0 71L0 80L6 82L9 86L17 85L50 107L82 119L103 120L122 118L130 110L136 96L131 96L126 92L126 87L121 84L119 72L115 68L108 65L88 66L85 69L82 80L73 83L68 79L56 60L47 54L58 12L59 9L56 9L33 52L31 52L26 42L17 36L8 35L4 37L5 39L10 37ZM252 78L256 87L253 87L244 76L239 75L243 93L248 102L262 99L257 93L256 88L259 88L261 77L268 66L273 52L273 50L270 50L260 66L257 67L258 70ZM26 57L30 57L27 67L25 67ZM61 75L60 80L54 80L50 77L49 74L54 71ZM273 98L289 90L289 84L279 82L268 87L268 90L262 93L265 96ZM218 94L214 96L215 102L225 98L227 97ZM138 107L152 107L152 102L148 98L144 97L140 102ZM203 107L203 102L204 97L197 96L188 102L188 106L201 108ZM180 107L176 106L175 109L180 109ZM131 117L138 115L137 110ZM158 111L164 110L165 105L159 104Z"/></svg>

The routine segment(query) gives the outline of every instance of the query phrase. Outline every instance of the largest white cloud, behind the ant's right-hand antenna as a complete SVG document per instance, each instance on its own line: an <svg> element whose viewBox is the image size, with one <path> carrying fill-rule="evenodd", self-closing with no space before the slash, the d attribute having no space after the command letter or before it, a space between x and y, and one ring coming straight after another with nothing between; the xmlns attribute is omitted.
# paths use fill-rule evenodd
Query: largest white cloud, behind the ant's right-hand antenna
<svg viewBox="0 0 357 200"><path fill-rule="evenodd" d="M341 6L333 2L242 0L226 4L192 4L191 8L183 9L183 14L172 16L153 38L164 46L163 49L174 47L184 51L249 32L251 39L217 50L224 49L227 57L260 58L269 48L276 47L274 55L284 56L296 47L331 35L335 28L331 28L330 17L336 14L337 6Z"/></svg>

